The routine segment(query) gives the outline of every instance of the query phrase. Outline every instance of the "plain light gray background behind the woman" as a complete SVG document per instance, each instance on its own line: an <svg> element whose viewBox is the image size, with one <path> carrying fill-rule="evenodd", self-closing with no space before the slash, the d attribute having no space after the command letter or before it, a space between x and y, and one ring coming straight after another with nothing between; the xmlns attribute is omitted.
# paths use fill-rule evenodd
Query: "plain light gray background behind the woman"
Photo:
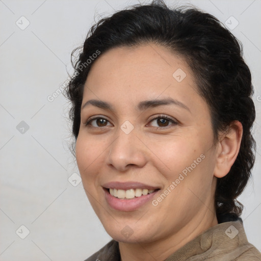
<svg viewBox="0 0 261 261"><path fill-rule="evenodd" d="M70 53L84 42L94 15L137 3L0 0L0 260L81 261L110 240L82 182L74 187L68 181L79 173L68 149L68 103L62 94L52 102L47 97L67 79L66 70L72 72ZM257 141L253 179L240 200L249 242L261 250L261 1L167 3L191 3L222 22L230 16L239 22L232 33L243 43L253 76ZM16 25L26 24L21 16L30 21L24 30ZM24 134L16 128L21 121L30 127ZM30 230L25 239L21 225Z"/></svg>

